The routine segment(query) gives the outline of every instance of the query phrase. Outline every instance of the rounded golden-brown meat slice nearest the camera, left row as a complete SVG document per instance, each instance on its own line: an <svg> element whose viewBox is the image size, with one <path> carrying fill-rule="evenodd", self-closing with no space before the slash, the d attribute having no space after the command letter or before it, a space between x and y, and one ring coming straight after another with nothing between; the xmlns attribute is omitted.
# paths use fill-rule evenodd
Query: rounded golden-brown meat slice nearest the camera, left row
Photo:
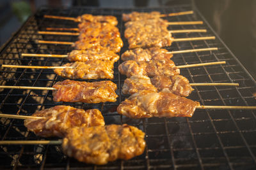
<svg viewBox="0 0 256 170"><path fill-rule="evenodd" d="M63 152L88 164L131 159L145 149L145 133L130 125L74 127L63 139Z"/></svg>

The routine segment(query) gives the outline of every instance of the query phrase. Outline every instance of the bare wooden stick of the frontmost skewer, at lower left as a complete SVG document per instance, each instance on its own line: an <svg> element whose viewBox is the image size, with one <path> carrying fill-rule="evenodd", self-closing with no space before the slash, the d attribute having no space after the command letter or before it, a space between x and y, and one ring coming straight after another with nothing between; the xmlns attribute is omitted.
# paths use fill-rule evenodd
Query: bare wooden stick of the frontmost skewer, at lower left
<svg viewBox="0 0 256 170"><path fill-rule="evenodd" d="M58 141L0 141L0 145L60 145L62 140Z"/></svg>

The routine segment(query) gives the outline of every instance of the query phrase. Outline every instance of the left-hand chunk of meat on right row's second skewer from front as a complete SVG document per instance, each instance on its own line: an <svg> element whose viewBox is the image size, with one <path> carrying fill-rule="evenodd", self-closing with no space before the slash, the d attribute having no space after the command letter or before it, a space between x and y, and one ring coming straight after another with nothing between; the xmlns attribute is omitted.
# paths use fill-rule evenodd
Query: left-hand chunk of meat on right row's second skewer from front
<svg viewBox="0 0 256 170"><path fill-rule="evenodd" d="M140 90L150 90L152 92L157 92L156 87L152 85L148 76L139 74L125 79L124 86L122 88L123 94L134 94Z"/></svg>

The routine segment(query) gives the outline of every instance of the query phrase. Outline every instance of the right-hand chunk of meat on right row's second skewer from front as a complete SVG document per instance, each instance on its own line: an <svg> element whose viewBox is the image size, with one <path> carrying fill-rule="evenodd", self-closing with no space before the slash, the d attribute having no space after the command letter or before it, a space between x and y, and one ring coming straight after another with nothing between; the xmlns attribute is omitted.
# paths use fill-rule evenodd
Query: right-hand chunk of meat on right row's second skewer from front
<svg viewBox="0 0 256 170"><path fill-rule="evenodd" d="M181 75L154 76L151 78L151 83L158 91L172 92L178 96L189 96L194 90L189 85L188 79Z"/></svg>

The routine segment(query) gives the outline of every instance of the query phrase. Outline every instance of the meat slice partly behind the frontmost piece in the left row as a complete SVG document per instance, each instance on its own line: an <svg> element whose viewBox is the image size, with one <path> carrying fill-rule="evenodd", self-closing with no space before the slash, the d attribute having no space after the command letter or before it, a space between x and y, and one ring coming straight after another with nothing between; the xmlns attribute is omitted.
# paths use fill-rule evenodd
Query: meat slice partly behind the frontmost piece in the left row
<svg viewBox="0 0 256 170"><path fill-rule="evenodd" d="M63 138L71 127L91 127L105 125L99 110L81 110L70 106L54 106L36 111L32 117L24 120L24 125L37 136Z"/></svg>

